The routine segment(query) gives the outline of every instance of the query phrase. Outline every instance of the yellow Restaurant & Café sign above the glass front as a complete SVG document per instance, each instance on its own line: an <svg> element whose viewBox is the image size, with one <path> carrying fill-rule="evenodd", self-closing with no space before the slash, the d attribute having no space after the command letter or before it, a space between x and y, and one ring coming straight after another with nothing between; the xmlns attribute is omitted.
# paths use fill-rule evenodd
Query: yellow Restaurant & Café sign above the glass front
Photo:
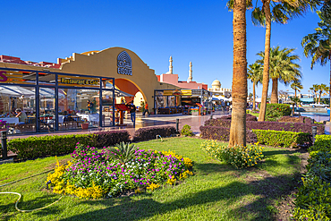
<svg viewBox="0 0 331 221"><path fill-rule="evenodd" d="M59 74L59 86L100 88L100 79L89 76L70 76Z"/></svg>

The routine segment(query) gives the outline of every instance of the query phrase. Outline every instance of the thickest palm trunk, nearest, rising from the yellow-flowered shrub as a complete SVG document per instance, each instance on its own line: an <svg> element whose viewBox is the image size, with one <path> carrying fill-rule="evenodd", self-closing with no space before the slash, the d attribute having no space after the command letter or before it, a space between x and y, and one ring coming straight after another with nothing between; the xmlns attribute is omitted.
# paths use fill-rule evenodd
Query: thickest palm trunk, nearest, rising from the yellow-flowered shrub
<svg viewBox="0 0 331 221"><path fill-rule="evenodd" d="M233 112L229 146L246 146L246 0L234 0L233 6Z"/></svg>

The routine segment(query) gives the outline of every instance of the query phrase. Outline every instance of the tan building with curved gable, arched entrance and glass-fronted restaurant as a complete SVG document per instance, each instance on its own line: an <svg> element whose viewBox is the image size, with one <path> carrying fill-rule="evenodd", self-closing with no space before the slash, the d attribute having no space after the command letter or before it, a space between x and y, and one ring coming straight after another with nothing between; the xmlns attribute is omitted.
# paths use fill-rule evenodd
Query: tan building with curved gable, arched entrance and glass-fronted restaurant
<svg viewBox="0 0 331 221"><path fill-rule="evenodd" d="M155 90L167 89L180 88L157 81L154 70L123 47L73 53L57 64L0 55L0 120L12 134L114 126L115 98L153 109ZM166 102L177 106L180 96ZM15 117L16 109L24 115Z"/></svg>

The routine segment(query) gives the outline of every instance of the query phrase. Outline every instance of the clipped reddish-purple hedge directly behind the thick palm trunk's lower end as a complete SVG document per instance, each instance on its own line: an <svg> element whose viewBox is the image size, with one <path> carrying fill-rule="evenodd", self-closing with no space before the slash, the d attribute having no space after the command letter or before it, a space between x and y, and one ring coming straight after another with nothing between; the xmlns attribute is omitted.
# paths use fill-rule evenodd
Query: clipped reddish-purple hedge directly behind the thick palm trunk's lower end
<svg viewBox="0 0 331 221"><path fill-rule="evenodd" d="M210 140L230 140L230 128L217 126L200 126L200 137ZM254 143L257 141L255 133L246 131L246 142Z"/></svg>

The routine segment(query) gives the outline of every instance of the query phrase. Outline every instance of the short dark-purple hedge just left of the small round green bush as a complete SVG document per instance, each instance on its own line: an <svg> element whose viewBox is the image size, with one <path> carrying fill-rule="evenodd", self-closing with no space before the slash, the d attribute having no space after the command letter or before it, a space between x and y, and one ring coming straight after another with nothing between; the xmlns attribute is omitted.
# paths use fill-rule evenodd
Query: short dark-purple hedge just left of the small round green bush
<svg viewBox="0 0 331 221"><path fill-rule="evenodd" d="M157 139L157 135L170 137L175 132L173 126L140 128L134 133L132 141L153 140Z"/></svg>

